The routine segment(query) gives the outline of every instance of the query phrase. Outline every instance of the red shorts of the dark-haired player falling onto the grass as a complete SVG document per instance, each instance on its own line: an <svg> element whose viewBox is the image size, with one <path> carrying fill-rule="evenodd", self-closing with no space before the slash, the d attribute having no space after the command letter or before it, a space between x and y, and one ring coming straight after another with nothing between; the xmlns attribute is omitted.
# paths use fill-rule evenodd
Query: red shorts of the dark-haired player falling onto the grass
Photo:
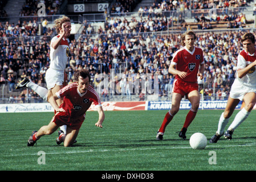
<svg viewBox="0 0 256 182"><path fill-rule="evenodd" d="M57 126L67 125L73 130L79 130L85 118L85 114L78 118L71 118L66 112L58 112L54 115L51 122L54 122Z"/></svg>

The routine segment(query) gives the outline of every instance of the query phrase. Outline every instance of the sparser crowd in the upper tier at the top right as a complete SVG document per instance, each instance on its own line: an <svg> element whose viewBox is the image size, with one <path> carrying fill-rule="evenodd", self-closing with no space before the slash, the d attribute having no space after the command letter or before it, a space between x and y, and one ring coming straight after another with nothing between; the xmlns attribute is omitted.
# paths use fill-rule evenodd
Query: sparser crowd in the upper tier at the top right
<svg viewBox="0 0 256 182"><path fill-rule="evenodd" d="M127 1L125 1L127 2ZM190 2L192 5L190 6ZM108 17L108 24L101 28L100 32L107 34L115 33L132 33L132 32L154 32L154 31L164 31L168 27L172 27L173 23L180 24L181 30L191 30L192 27L185 21L181 12L184 10L200 10L200 9L210 9L212 6L209 6L209 3L215 3L217 8L217 14L213 13L211 16L205 16L202 13L200 16L194 16L194 23L197 23L197 29L199 30L209 30L212 29L211 22L228 22L226 28L243 28L246 25L246 16L243 13L239 13L238 10L235 10L232 14L228 14L229 8L232 7L243 7L247 6L250 1L164 1L164 0L155 0L150 7L140 6L138 14L140 19L137 20L134 17L130 22L127 19L121 20L118 16ZM127 2L128 3L128 2ZM119 9L120 10L115 10ZM116 13L119 16L122 15L125 11L122 8L122 3L117 1L115 5L111 8L111 13ZM178 16L172 16L170 13L165 13L169 11L180 12ZM198 11L199 12L199 11ZM170 17L169 17L170 16ZM86 27L87 28L87 27ZM85 29L86 29L85 28ZM90 27L91 28L91 27ZM99 32L95 32L99 34ZM88 34L88 33L87 33Z"/></svg>

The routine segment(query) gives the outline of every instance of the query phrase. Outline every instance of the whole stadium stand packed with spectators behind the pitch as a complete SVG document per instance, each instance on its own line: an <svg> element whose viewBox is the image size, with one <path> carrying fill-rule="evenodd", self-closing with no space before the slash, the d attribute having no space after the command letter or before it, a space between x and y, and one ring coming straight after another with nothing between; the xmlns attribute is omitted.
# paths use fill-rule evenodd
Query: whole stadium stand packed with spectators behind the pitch
<svg viewBox="0 0 256 182"><path fill-rule="evenodd" d="M7 6L3 2L0 11L5 11ZM44 74L50 64L49 44L56 34L51 26L52 17L58 15L62 1L45 2L48 26L44 31L43 19L35 16L35 1L25 1L17 22L0 19L0 100L3 103L43 102L31 90L15 90L14 86L23 77L46 86ZM114 1L104 21L95 23L95 20L84 18L81 28L70 38L67 82L72 82L72 74L81 68L90 70L94 86L101 81L100 73L109 75L111 69L123 73L124 77L131 74L135 78L141 73L157 73L159 96L146 93L147 100L170 100L174 78L168 73L169 63L173 53L181 47L180 35L191 29L198 35L196 46L204 51L205 78L198 80L204 99L226 99L235 78L237 55L242 48L239 39L247 31L256 32L255 17L250 14L254 3L214 1L219 17L208 15L209 3ZM179 14L175 14L177 10ZM116 80L109 80L109 83L112 81ZM100 94L104 101L145 99L143 88L131 97L127 97L128 91L134 93L134 90L123 90L124 94L106 94L103 90Z"/></svg>

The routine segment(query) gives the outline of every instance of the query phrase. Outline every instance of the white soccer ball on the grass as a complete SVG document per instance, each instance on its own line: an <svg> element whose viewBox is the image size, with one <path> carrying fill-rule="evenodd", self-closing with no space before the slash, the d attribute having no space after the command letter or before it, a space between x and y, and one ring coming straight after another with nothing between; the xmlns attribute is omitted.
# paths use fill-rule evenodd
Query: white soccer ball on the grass
<svg viewBox="0 0 256 182"><path fill-rule="evenodd" d="M207 145L207 138L202 133L194 133L189 139L189 144L193 149L204 149Z"/></svg>

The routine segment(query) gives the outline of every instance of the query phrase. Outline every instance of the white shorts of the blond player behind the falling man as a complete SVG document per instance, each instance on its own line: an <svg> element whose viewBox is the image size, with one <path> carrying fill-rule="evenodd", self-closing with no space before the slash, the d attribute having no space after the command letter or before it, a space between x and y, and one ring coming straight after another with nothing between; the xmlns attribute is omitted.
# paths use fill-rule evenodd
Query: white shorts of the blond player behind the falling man
<svg viewBox="0 0 256 182"><path fill-rule="evenodd" d="M64 82L64 71L48 68L46 71L47 89L54 88L55 85L62 85Z"/></svg>

